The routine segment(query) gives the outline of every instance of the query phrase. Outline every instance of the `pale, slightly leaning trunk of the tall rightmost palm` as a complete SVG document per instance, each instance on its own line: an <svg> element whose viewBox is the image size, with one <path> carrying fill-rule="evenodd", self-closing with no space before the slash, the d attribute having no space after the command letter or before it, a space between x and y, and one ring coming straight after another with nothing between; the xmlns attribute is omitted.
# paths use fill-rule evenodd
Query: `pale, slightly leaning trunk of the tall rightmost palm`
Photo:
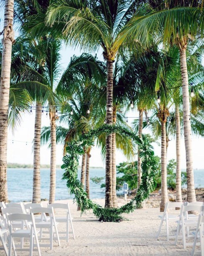
<svg viewBox="0 0 204 256"><path fill-rule="evenodd" d="M194 168L191 143L191 120L189 101L189 79L186 64L186 48L180 50L182 92L183 92L183 128L186 148L186 173L187 173L187 201L195 202L196 193L194 187Z"/></svg>

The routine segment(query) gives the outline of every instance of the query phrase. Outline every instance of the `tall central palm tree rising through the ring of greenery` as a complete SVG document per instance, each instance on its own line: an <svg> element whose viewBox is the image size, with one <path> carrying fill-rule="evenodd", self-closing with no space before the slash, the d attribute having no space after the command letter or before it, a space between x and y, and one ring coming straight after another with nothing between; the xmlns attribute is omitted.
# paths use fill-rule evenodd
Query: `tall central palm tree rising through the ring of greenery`
<svg viewBox="0 0 204 256"><path fill-rule="evenodd" d="M124 36L123 29L129 27L129 18L137 10L141 1L126 3L124 1L99 0L85 1L73 5L70 1L57 1L48 11L49 24L64 25L65 40L73 46L80 45L86 50L103 49L107 62L107 100L106 124L113 124L113 63L119 48L129 37ZM71 5L72 4L72 5ZM82 5L82 6L80 6ZM63 10L63 11L62 11ZM144 11L144 10L143 10ZM71 16L71 18L70 18ZM67 22L68 18L68 22ZM69 19L70 18L70 19ZM106 137L106 196L105 207L112 207L112 135Z"/></svg>

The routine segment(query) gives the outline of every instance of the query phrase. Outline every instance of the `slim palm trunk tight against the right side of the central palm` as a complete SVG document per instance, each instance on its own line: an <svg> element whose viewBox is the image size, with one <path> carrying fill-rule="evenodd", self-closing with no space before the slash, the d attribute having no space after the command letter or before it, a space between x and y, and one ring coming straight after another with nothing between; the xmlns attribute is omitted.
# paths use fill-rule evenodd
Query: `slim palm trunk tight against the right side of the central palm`
<svg viewBox="0 0 204 256"><path fill-rule="evenodd" d="M117 106L113 108L113 124L116 124ZM116 133L112 134L112 198L113 207L118 207L117 194L116 194Z"/></svg>

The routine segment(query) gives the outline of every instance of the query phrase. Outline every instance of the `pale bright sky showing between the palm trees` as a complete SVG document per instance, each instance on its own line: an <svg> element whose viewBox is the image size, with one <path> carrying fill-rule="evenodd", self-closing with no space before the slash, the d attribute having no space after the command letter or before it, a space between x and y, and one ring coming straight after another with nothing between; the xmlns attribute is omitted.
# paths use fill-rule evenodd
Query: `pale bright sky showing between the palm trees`
<svg viewBox="0 0 204 256"><path fill-rule="evenodd" d="M3 28L3 13L0 10L0 27ZM1 30L0 30L1 31ZM17 35L17 33L16 33ZM1 36L2 37L2 36ZM0 39L1 39L0 37ZM75 50L72 48L66 48L63 46L61 50L62 61L61 65L65 69L68 65L72 55L80 55L80 50ZM99 50L97 53L98 58L103 60L102 51ZM126 114L128 117L137 117L137 110L130 111ZM23 120L21 124L12 131L8 129L8 162L9 163L20 163L20 164L33 164L33 150L32 150L32 141L34 138L34 119L35 111L33 114L25 113L23 114ZM129 124L133 118L129 118ZM44 114L42 116L42 126L49 126L49 117L46 117ZM193 162L194 169L204 169L204 138L198 136L192 136L192 149L193 149ZM156 156L160 156L160 146L156 143L153 143L154 151ZM57 164L62 164L63 157L63 146L57 145ZM176 159L176 141L173 137L170 137L170 142L168 146L167 160ZM116 164L126 161L127 159L119 151L116 153ZM50 148L48 145L41 147L41 164L50 163ZM91 150L90 166L95 167L104 167L105 163L101 159L101 151L99 148L94 147ZM185 156L185 145L184 139L181 140L181 168L186 169L186 156Z"/></svg>

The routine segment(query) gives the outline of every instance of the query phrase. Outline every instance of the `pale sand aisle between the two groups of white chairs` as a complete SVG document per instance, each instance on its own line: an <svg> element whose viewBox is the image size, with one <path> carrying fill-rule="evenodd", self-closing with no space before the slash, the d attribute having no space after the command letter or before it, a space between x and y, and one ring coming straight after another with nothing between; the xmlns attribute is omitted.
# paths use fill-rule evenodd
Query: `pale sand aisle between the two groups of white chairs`
<svg viewBox="0 0 204 256"><path fill-rule="evenodd" d="M90 211L80 216L76 204L67 200L73 218L76 239L70 232L70 240L61 240L61 246L54 242L52 251L41 247L42 256L187 256L191 253L191 247L183 249L181 243L174 245L174 241L166 241L165 231L161 237L156 238L160 224L159 208L137 209L131 214L125 214L128 221L120 223L98 222ZM60 202L67 202L60 201ZM103 199L95 200L101 205ZM59 201L56 201L59 202ZM46 205L47 202L43 202ZM119 198L119 206L125 201ZM179 213L177 211L177 213ZM57 214L56 212L56 215ZM65 225L58 225L58 230L65 230ZM0 255L5 255L0 251ZM18 252L18 255L28 255L28 252ZM34 256L38 255L34 252Z"/></svg>

